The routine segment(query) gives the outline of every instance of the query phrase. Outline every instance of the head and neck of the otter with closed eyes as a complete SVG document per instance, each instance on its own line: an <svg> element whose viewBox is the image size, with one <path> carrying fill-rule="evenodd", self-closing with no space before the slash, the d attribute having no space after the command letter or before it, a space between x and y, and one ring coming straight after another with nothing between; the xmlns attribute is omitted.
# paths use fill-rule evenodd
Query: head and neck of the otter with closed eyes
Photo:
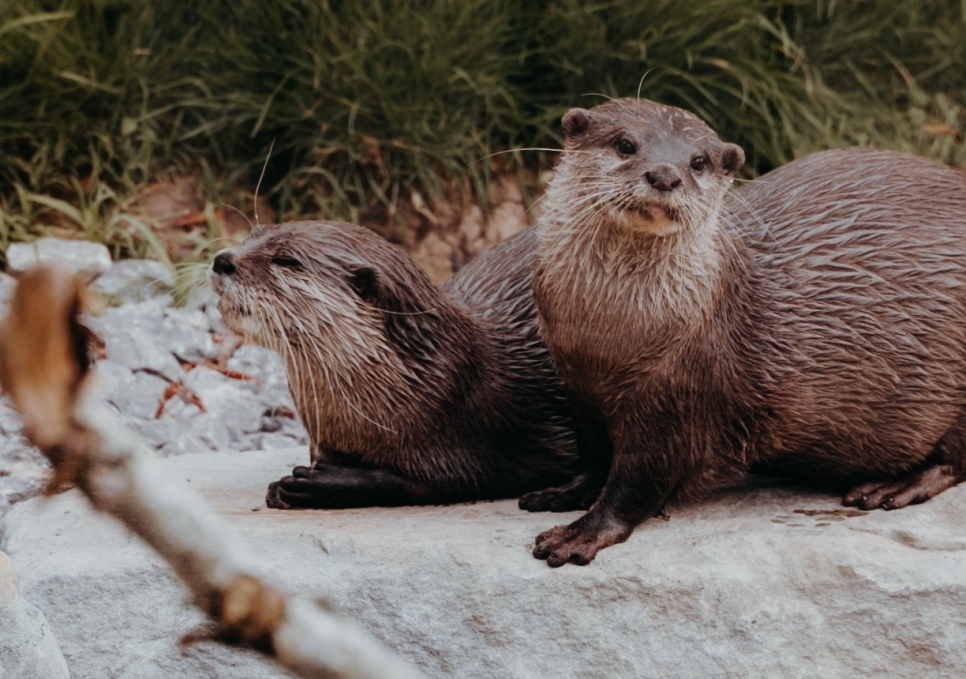
<svg viewBox="0 0 966 679"><path fill-rule="evenodd" d="M225 324L285 360L317 449L393 445L394 422L423 398L420 372L443 371L445 300L368 229L259 226L215 256L210 280Z"/></svg>

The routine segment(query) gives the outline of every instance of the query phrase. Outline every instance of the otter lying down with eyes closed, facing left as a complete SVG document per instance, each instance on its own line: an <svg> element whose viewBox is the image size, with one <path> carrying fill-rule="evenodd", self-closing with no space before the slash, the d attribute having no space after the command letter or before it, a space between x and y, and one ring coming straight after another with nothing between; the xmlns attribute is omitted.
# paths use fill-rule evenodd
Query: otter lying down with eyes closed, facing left
<svg viewBox="0 0 966 679"><path fill-rule="evenodd" d="M539 336L535 233L484 252L442 289L372 231L257 226L210 280L226 325L284 360L311 465L270 507L516 497L577 473L569 402Z"/></svg>

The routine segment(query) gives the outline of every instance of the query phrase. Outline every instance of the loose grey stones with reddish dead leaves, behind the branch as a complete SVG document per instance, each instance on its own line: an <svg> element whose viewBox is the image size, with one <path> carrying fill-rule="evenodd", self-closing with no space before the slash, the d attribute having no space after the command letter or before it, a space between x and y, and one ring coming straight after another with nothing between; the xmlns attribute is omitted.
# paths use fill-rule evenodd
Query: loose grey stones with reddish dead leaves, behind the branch
<svg viewBox="0 0 966 679"><path fill-rule="evenodd" d="M33 246L11 246L11 268L36 259ZM240 346L200 291L174 304L173 282L159 262L112 264L106 248L48 240L41 257L65 259L93 278L94 306L86 324L98 338L95 372L104 400L161 456L232 452L305 444L284 367L273 352ZM15 285L0 274L0 305ZM49 465L20 433L17 413L0 399L0 518L35 495Z"/></svg>

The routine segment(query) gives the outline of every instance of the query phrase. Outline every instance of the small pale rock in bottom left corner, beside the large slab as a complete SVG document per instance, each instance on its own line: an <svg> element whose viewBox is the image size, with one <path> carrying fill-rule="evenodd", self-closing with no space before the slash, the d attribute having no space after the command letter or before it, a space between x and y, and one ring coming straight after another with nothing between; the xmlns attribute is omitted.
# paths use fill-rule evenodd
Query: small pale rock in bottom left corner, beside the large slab
<svg viewBox="0 0 966 679"><path fill-rule="evenodd" d="M69 676L44 614L17 592L13 561L0 552L0 679L65 679Z"/></svg>

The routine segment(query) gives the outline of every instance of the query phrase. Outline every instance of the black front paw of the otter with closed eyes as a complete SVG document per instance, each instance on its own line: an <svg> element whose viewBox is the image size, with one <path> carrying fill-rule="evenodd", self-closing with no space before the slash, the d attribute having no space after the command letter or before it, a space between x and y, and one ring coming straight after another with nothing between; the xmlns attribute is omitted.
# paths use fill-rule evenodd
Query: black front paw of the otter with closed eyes
<svg viewBox="0 0 966 679"><path fill-rule="evenodd" d="M269 484L265 503L273 509L348 509L424 504L417 484L388 469L360 469L318 463L295 467Z"/></svg>

